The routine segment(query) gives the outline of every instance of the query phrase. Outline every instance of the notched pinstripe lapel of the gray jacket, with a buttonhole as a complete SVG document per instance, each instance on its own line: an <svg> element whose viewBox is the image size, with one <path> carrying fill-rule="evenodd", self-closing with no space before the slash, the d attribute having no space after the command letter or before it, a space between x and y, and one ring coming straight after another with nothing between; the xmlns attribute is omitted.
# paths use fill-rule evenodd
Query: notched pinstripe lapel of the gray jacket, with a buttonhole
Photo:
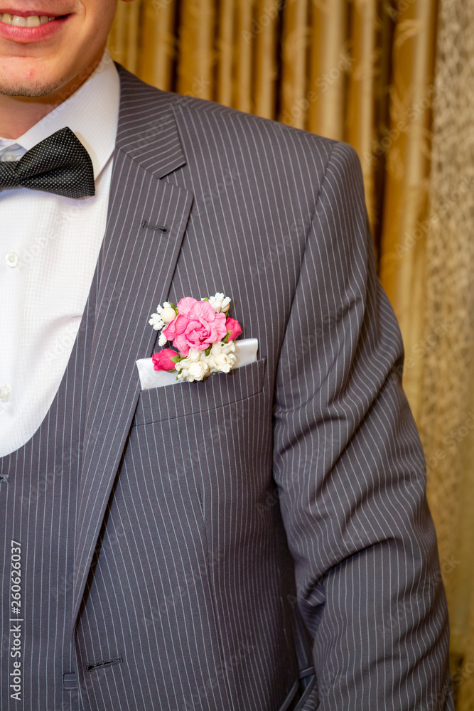
<svg viewBox="0 0 474 711"><path fill-rule="evenodd" d="M185 163L169 95L153 90L154 111L146 122L149 87L119 70L121 112L107 230L99 257L77 515L73 626L139 398L135 361L153 353L157 333L149 326L149 317L168 296L193 202L188 191L159 179ZM140 132L134 127L137 114L141 114Z"/></svg>

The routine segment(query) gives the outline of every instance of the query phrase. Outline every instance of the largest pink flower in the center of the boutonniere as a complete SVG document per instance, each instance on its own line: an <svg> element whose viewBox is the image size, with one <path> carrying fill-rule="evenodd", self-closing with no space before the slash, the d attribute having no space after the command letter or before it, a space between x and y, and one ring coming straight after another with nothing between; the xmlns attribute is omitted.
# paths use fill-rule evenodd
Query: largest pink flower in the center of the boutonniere
<svg viewBox="0 0 474 711"><path fill-rule="evenodd" d="M190 348L205 351L212 343L222 341L227 333L225 314L216 314L208 301L185 296L176 306L178 316L166 328L164 336L186 357Z"/></svg>

